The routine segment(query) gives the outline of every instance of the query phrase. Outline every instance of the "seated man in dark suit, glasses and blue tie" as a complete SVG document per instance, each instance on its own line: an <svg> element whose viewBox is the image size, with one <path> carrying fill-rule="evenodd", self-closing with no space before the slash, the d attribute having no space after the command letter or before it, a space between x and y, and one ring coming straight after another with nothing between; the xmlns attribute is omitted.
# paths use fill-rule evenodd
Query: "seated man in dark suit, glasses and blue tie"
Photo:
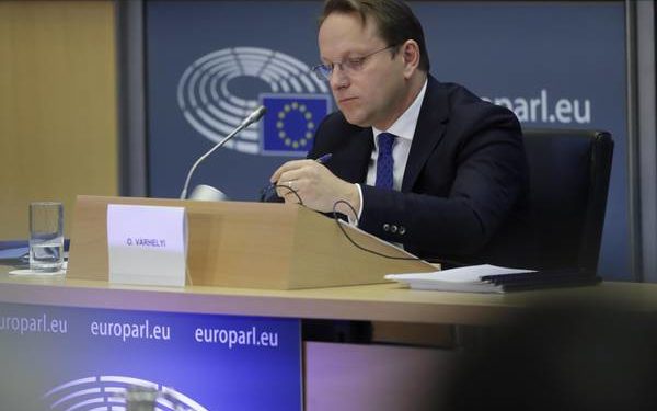
<svg viewBox="0 0 657 411"><path fill-rule="evenodd" d="M422 26L402 1L326 1L319 48L313 70L339 111L309 159L272 182L419 256L518 265L507 242L522 227L529 172L515 115L428 75ZM325 164L312 160L326 153Z"/></svg>

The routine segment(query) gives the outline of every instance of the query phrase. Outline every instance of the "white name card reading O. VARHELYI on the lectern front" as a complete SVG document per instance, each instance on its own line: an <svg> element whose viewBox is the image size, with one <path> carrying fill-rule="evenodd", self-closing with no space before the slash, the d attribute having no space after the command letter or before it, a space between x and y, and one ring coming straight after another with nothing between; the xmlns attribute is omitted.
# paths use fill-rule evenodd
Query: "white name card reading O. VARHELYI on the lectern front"
<svg viewBox="0 0 657 411"><path fill-rule="evenodd" d="M184 207L107 205L110 283L184 286Z"/></svg>

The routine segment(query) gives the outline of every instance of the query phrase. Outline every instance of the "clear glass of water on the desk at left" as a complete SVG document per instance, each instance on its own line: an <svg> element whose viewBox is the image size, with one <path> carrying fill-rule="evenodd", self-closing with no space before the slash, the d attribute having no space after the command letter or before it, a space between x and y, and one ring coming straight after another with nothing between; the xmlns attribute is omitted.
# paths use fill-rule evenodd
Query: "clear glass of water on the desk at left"
<svg viewBox="0 0 657 411"><path fill-rule="evenodd" d="M30 204L30 270L56 273L64 264L64 206L57 202Z"/></svg>

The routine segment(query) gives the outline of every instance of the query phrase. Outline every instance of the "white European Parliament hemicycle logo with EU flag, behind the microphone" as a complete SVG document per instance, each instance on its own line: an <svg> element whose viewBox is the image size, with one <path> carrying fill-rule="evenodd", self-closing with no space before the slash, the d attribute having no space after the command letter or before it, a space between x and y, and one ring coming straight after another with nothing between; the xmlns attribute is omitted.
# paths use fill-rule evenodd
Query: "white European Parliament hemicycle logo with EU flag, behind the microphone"
<svg viewBox="0 0 657 411"><path fill-rule="evenodd" d="M308 134L330 111L328 87L306 62L262 47L223 48L199 57L181 76L176 95L187 123L214 142L266 99L264 118L273 121L272 128L252 124L223 146L250 155L303 155L310 148Z"/></svg>

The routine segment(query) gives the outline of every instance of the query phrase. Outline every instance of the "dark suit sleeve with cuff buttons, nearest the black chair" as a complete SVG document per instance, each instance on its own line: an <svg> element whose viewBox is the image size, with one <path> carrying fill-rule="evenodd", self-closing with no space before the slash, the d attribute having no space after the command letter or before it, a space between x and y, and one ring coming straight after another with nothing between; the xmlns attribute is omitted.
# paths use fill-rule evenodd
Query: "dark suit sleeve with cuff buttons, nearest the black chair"
<svg viewBox="0 0 657 411"><path fill-rule="evenodd" d="M362 229L428 258L473 254L492 239L527 189L522 136L506 109L477 104L464 113L436 136L411 192L362 186ZM431 184L439 173L453 176L442 192Z"/></svg>

